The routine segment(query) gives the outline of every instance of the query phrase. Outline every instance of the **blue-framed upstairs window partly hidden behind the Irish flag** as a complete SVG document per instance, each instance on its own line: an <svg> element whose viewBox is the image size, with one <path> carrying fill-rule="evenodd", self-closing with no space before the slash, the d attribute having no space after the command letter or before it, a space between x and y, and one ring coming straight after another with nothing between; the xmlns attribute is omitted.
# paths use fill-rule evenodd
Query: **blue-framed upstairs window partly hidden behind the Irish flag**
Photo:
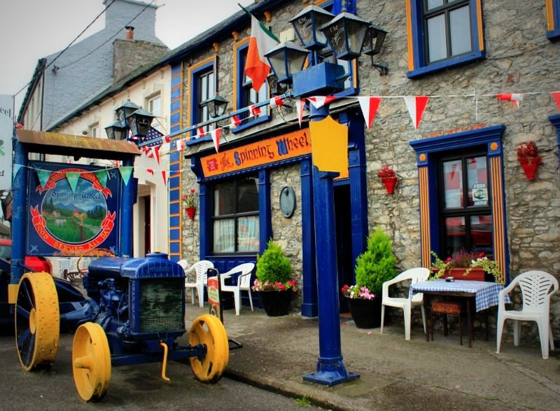
<svg viewBox="0 0 560 411"><path fill-rule="evenodd" d="M234 110L243 109L245 107L251 106L251 104L258 104L260 102L265 102L269 98L268 84L265 82L258 92L253 90L253 83L251 78L248 78L245 74L245 62L248 50L248 39L237 43L234 47L235 55L235 107ZM250 113L246 111L239 119L243 120L244 123L232 129L232 132L240 132L245 130L247 127L253 127L254 125L264 123L270 120L270 110L269 106L261 106L260 114L255 117L248 118Z"/></svg>

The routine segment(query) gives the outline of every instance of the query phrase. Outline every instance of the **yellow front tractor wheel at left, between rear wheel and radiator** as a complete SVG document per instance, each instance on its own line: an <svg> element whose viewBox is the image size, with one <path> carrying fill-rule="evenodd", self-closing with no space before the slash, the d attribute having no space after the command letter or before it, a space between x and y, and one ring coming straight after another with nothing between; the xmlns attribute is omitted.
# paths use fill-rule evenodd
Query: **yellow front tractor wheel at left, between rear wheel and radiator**
<svg viewBox="0 0 560 411"><path fill-rule="evenodd" d="M111 382L111 351L102 326L84 323L74 334L72 372L78 394L85 401L99 401Z"/></svg>

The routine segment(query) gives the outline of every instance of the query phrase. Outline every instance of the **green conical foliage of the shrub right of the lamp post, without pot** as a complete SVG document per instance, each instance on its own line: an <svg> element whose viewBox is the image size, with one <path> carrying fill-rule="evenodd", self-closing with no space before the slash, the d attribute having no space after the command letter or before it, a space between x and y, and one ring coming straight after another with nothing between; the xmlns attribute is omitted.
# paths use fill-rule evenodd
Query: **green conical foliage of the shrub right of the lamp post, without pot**
<svg viewBox="0 0 560 411"><path fill-rule="evenodd" d="M398 274L392 246L389 236L379 227L367 237L367 250L356 258L357 286L367 287L381 297L383 283Z"/></svg>

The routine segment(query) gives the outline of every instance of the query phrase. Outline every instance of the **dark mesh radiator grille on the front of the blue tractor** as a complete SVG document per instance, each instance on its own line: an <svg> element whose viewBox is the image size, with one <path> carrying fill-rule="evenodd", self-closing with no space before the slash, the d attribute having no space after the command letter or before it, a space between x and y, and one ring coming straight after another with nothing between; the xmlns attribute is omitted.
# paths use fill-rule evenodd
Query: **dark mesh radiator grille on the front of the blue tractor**
<svg viewBox="0 0 560 411"><path fill-rule="evenodd" d="M183 329L182 278L140 281L139 332L155 333Z"/></svg>

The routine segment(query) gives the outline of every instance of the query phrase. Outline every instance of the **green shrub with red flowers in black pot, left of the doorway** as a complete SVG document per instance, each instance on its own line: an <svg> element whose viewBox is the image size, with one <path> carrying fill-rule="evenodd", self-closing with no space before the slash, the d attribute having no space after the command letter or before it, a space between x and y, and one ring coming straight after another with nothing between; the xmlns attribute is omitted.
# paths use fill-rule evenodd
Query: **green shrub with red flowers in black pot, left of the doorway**
<svg viewBox="0 0 560 411"><path fill-rule="evenodd" d="M267 248L257 256L257 270L252 291L258 294L260 304L268 316L286 315L290 311L293 293L297 292L292 277L292 264L281 246L269 239Z"/></svg>

